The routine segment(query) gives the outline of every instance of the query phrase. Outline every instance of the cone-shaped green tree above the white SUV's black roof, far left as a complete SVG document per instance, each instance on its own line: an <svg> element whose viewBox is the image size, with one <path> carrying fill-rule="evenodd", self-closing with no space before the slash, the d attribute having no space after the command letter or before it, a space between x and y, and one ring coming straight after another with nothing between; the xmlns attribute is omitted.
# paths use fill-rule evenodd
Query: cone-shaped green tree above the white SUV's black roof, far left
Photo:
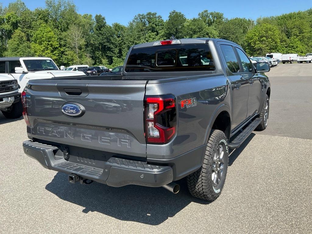
<svg viewBox="0 0 312 234"><path fill-rule="evenodd" d="M25 33L20 28L15 30L12 38L7 42L7 51L4 53L7 57L25 57L32 56L30 42L27 41Z"/></svg>

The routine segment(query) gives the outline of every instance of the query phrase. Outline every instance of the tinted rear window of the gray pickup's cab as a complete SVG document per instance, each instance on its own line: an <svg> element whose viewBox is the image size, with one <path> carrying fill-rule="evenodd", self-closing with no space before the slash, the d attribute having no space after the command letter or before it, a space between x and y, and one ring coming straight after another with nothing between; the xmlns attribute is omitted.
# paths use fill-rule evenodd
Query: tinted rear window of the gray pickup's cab
<svg viewBox="0 0 312 234"><path fill-rule="evenodd" d="M182 44L131 50L126 72L214 71L207 44Z"/></svg>

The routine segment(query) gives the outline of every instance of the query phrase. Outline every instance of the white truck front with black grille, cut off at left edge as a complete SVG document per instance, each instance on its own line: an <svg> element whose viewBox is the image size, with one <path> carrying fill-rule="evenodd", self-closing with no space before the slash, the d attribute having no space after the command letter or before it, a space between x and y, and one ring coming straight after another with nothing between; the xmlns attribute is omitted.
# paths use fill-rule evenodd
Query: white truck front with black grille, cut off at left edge
<svg viewBox="0 0 312 234"><path fill-rule="evenodd" d="M21 95L19 85L13 76L0 75L0 110L4 117L16 119L22 116Z"/></svg>

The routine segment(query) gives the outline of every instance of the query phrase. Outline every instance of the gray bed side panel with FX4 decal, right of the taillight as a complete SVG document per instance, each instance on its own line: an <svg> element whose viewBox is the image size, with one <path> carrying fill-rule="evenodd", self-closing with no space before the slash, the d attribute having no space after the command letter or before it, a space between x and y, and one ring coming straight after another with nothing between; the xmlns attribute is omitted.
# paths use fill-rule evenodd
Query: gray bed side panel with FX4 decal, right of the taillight
<svg viewBox="0 0 312 234"><path fill-rule="evenodd" d="M177 104L177 134L165 145L147 144L148 158L168 159L206 144L209 125L217 110L230 110L229 81L224 75L146 85L145 95L172 94ZM196 105L181 108L181 101L196 98Z"/></svg>

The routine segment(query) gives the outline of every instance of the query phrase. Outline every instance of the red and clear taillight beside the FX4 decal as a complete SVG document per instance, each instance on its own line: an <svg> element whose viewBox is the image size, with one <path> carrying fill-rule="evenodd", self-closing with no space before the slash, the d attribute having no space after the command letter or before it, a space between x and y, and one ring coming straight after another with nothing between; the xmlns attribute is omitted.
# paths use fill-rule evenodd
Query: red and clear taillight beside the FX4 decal
<svg viewBox="0 0 312 234"><path fill-rule="evenodd" d="M176 104L172 95L145 98L145 136L147 143L168 143L176 133Z"/></svg>

